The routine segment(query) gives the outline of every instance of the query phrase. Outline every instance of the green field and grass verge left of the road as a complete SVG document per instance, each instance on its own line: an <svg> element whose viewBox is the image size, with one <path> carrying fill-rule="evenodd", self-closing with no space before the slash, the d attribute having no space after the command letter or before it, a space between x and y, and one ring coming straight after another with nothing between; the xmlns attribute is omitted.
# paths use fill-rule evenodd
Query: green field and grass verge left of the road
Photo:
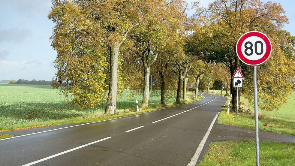
<svg viewBox="0 0 295 166"><path fill-rule="evenodd" d="M171 107L175 101L172 96L166 99L167 106L160 107L161 95L156 90L153 91L153 109L137 112L135 101L140 102L142 96L131 96L131 91L124 91L118 96L116 114L105 116L105 101L92 109L81 109L68 103L58 92L50 85L0 84L0 131L113 119ZM192 93L188 92L187 101L182 104L192 102L191 96Z"/></svg>

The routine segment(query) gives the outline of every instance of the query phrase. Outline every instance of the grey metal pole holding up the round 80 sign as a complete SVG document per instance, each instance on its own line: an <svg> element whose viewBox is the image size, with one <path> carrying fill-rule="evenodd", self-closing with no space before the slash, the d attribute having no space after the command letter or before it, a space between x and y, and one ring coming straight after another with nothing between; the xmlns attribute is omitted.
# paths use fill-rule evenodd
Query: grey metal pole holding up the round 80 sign
<svg viewBox="0 0 295 166"><path fill-rule="evenodd" d="M259 135L258 135L258 99L257 99L257 66L253 66L253 86L254 86L254 113L255 113L255 135L256 135L256 166L259 163Z"/></svg>

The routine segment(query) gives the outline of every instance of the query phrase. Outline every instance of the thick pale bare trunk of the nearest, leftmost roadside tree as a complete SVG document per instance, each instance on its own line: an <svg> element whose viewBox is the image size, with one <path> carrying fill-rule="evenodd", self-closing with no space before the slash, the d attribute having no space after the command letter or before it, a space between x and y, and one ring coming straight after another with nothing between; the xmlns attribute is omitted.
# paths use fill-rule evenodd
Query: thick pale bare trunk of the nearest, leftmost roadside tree
<svg viewBox="0 0 295 166"><path fill-rule="evenodd" d="M119 44L110 47L110 84L104 114L114 114L116 112L119 48Z"/></svg>

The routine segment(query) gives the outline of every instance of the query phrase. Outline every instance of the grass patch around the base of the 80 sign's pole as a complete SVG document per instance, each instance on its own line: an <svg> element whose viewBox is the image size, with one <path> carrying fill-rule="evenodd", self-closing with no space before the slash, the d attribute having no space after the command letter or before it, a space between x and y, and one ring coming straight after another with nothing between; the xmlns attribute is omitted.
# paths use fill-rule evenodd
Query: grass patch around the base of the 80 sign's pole
<svg viewBox="0 0 295 166"><path fill-rule="evenodd" d="M260 142L260 165L263 166L290 166L295 165L295 143ZM198 166L228 166L255 165L255 142L221 141L209 145L203 160Z"/></svg>

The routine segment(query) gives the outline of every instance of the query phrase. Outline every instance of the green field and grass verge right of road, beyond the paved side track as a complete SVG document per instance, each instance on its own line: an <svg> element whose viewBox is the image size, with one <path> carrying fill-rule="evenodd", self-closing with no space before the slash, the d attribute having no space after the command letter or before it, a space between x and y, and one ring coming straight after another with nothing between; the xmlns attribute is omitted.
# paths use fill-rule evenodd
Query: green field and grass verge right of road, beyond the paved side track
<svg viewBox="0 0 295 166"><path fill-rule="evenodd" d="M220 95L221 91L216 91ZM227 115L226 109L221 111L218 117L218 123L237 125L246 128L255 128L254 126L254 108L247 99L241 97L241 106L249 108L251 115L239 113L236 116L235 112ZM259 106L258 106L259 107ZM282 134L295 135L295 91L289 96L287 104L279 108L279 110L265 111L259 110L259 129L272 131Z"/></svg>

